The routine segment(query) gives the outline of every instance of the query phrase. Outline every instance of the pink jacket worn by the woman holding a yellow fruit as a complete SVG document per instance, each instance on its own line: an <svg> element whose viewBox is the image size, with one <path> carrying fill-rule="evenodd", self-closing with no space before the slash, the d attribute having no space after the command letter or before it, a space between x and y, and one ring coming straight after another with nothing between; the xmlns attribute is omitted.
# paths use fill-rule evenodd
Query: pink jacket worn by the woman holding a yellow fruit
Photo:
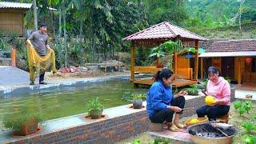
<svg viewBox="0 0 256 144"><path fill-rule="evenodd" d="M230 106L230 84L224 78L219 77L218 82L207 82L207 94L214 96L217 99L222 99L225 106Z"/></svg>

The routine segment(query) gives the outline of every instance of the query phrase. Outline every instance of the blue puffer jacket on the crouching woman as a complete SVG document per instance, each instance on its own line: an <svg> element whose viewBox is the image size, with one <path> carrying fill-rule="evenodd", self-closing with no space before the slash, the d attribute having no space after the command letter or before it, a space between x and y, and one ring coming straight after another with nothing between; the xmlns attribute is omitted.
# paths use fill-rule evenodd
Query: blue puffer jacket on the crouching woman
<svg viewBox="0 0 256 144"><path fill-rule="evenodd" d="M146 97L146 111L150 117L158 111L166 109L167 105L174 99L171 86L163 82L154 82Z"/></svg>

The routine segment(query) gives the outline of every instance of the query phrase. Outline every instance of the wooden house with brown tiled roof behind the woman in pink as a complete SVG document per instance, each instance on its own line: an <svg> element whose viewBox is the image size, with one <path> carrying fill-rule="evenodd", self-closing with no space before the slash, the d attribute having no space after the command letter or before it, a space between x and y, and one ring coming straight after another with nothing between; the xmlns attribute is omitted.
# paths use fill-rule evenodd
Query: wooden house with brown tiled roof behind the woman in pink
<svg viewBox="0 0 256 144"><path fill-rule="evenodd" d="M216 66L232 81L256 83L256 39L213 42L201 58L201 77L209 66Z"/></svg>

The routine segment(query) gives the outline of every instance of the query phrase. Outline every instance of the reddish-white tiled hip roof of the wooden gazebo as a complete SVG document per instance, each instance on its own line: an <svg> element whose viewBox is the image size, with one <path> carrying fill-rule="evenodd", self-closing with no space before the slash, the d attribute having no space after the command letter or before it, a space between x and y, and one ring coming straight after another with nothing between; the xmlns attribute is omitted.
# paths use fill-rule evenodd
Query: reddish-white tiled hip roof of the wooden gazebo
<svg viewBox="0 0 256 144"><path fill-rule="evenodd" d="M179 26L175 26L170 22L161 22L157 25L150 26L149 28L139 31L135 34L131 34L126 38L122 38L124 41L132 40L146 40L146 39L162 39L162 38L181 38L195 39L199 41L206 41L207 38L203 38L198 34L194 34L189 30L185 30Z"/></svg>

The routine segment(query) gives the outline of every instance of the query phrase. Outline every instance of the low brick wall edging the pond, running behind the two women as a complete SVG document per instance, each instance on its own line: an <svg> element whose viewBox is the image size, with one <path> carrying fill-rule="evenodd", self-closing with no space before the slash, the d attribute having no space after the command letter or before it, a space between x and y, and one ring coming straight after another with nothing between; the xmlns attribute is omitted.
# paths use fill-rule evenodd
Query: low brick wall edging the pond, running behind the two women
<svg viewBox="0 0 256 144"><path fill-rule="evenodd" d="M231 90L231 102L234 101L234 90ZM186 107L182 117L195 114L199 106L204 105L204 97L186 100ZM125 106L126 110L131 110ZM111 108L118 110L118 107ZM108 114L110 116L110 114ZM81 117L81 116L80 116ZM102 118L88 124L72 126L64 130L50 131L44 134L31 134L26 137L12 138L6 143L113 143L130 138L142 132L150 130L150 120L146 109L134 110L132 114L126 114L115 118Z"/></svg>

